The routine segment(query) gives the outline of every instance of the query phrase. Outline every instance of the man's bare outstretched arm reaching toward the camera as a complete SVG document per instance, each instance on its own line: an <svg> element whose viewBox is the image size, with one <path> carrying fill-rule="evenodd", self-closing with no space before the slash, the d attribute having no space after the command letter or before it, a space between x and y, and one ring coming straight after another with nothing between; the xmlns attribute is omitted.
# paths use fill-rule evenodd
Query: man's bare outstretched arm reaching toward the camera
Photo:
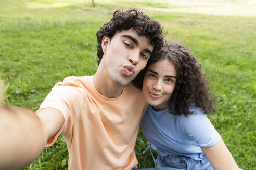
<svg viewBox="0 0 256 170"><path fill-rule="evenodd" d="M60 111L0 105L0 170L30 165L64 122Z"/></svg>

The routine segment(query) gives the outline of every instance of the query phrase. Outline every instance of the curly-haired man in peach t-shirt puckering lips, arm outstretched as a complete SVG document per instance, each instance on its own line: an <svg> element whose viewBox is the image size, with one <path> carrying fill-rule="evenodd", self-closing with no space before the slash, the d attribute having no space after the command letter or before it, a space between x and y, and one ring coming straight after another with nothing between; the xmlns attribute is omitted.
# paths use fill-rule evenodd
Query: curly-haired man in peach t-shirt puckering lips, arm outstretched
<svg viewBox="0 0 256 170"><path fill-rule="evenodd" d="M137 9L116 11L97 40L94 76L58 82L36 114L2 108L15 114L0 118L5 120L0 120L0 169L29 165L60 134L69 151L69 169L132 169L138 164L133 149L147 104L130 82L162 47L161 25Z"/></svg>

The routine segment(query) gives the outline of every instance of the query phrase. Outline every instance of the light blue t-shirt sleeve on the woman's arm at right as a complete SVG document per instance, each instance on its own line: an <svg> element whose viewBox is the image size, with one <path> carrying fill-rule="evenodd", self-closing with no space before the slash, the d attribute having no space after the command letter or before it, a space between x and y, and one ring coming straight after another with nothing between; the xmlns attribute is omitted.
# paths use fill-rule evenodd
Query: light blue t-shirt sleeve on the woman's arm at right
<svg viewBox="0 0 256 170"><path fill-rule="evenodd" d="M221 135L215 130L211 121L200 108L193 108L193 114L182 116L181 126L184 133L187 133L200 147L209 147L221 140Z"/></svg>

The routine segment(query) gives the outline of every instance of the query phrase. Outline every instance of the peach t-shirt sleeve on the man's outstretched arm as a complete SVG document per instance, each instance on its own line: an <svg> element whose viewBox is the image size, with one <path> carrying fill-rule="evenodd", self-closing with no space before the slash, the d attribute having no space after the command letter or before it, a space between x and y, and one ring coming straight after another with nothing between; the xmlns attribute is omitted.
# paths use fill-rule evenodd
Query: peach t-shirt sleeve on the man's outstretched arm
<svg viewBox="0 0 256 170"><path fill-rule="evenodd" d="M54 108L61 112L64 117L64 123L60 130L48 139L45 147L52 146L60 134L65 134L72 122L78 115L81 108L81 88L74 86L65 86L65 83L58 82L52 88L52 91L46 96L39 110L45 108ZM37 111L39 111L37 110Z"/></svg>

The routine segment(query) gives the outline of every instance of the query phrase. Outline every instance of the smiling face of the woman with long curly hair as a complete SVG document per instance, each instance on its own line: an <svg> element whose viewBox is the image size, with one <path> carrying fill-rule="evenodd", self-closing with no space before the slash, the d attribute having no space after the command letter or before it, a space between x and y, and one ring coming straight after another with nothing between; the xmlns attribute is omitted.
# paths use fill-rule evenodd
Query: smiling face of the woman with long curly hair
<svg viewBox="0 0 256 170"><path fill-rule="evenodd" d="M142 91L147 102L159 111L169 106L175 83L175 66L168 59L162 59L147 68Z"/></svg>

